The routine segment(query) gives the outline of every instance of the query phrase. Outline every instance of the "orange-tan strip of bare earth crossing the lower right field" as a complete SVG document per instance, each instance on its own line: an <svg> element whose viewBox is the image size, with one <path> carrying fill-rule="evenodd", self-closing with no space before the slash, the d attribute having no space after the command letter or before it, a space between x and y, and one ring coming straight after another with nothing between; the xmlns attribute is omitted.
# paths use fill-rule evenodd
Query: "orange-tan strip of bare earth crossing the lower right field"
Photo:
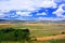
<svg viewBox="0 0 65 43"><path fill-rule="evenodd" d="M47 41L52 39L65 39L65 34L58 34L58 35L51 35L51 37L38 37L37 41Z"/></svg>

